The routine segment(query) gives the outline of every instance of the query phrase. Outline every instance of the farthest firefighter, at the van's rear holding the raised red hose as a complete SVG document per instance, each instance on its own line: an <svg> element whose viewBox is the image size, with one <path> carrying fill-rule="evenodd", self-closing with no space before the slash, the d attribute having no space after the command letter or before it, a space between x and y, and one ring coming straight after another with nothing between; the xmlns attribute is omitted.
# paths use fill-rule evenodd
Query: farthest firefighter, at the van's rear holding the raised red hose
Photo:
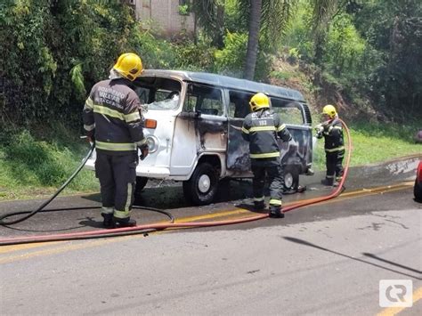
<svg viewBox="0 0 422 316"><path fill-rule="evenodd" d="M338 186L343 178L343 158L345 157L345 141L343 126L338 119L337 110L331 104L322 109L324 122L315 127L316 137L324 137L327 174L321 183Z"/></svg>

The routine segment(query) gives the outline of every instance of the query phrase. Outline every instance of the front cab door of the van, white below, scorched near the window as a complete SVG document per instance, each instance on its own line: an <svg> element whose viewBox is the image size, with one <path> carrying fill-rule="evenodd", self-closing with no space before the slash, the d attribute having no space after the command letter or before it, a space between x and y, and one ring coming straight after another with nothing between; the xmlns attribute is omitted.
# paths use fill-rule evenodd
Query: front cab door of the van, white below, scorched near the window
<svg viewBox="0 0 422 316"><path fill-rule="evenodd" d="M189 83L175 121L171 174L190 176L202 154L225 153L226 143L223 90Z"/></svg>

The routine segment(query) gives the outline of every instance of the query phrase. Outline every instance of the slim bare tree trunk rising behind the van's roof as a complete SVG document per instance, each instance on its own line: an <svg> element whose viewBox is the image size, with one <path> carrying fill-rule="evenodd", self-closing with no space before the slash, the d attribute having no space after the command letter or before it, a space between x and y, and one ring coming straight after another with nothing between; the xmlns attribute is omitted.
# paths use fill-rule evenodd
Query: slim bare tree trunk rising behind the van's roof
<svg viewBox="0 0 422 316"><path fill-rule="evenodd" d="M248 50L244 71L244 77L248 80L253 80L255 77L256 55L258 53L259 28L261 24L262 4L262 0L250 0Z"/></svg>

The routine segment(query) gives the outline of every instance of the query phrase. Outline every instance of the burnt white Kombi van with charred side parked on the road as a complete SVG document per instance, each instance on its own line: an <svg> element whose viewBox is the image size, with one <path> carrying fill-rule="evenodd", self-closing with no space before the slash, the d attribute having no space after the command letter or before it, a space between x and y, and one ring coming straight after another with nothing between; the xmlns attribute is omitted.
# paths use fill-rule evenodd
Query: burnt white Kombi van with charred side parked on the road
<svg viewBox="0 0 422 316"><path fill-rule="evenodd" d="M149 178L183 182L186 199L197 205L215 198L223 178L252 177L248 142L241 137L249 100L258 92L271 100L293 139L281 144L287 190L312 166L311 113L301 93L275 85L215 74L147 69L137 78L150 154L136 168L136 190ZM86 166L93 169L95 153Z"/></svg>

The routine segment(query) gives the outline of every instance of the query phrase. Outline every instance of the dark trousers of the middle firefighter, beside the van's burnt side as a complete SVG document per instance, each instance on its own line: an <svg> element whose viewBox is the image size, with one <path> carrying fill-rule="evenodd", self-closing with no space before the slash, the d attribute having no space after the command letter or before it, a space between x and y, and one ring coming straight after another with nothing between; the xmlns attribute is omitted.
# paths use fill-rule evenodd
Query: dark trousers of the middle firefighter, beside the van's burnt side
<svg viewBox="0 0 422 316"><path fill-rule="evenodd" d="M251 166L254 174L252 180L252 190L255 201L264 202L265 174L270 183L270 207L281 207L282 191L284 186L283 172L280 164L274 166Z"/></svg>

